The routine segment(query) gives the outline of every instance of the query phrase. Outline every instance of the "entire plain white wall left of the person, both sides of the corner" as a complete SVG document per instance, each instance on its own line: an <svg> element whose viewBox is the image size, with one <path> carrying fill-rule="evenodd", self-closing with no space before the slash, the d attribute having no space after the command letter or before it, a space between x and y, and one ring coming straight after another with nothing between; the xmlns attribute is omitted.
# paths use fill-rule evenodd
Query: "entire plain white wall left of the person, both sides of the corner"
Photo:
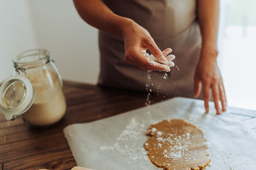
<svg viewBox="0 0 256 170"><path fill-rule="evenodd" d="M0 0L0 81L12 74L12 57L46 48L63 79L96 83L97 29L77 14L72 0Z"/></svg>

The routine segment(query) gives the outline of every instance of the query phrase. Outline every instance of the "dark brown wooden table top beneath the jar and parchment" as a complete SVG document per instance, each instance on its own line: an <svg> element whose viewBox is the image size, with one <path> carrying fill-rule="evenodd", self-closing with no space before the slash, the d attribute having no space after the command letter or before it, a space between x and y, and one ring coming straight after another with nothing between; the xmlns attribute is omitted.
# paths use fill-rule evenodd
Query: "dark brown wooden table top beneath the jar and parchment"
<svg viewBox="0 0 256 170"><path fill-rule="evenodd" d="M63 128L145 106L145 94L65 81L67 113L58 124L33 129L21 117L6 121L0 113L0 170L71 169L74 157ZM154 101L161 97L153 97Z"/></svg>

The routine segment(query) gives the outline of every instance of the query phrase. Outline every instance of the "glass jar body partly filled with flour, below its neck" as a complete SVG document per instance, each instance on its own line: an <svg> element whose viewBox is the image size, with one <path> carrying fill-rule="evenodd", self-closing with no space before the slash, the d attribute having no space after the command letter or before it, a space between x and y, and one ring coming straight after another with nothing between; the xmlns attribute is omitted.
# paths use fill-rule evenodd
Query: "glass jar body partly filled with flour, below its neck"
<svg viewBox="0 0 256 170"><path fill-rule="evenodd" d="M32 125L45 126L58 122L66 111L66 101L58 74L40 70L27 73L35 89L35 101L22 115Z"/></svg>

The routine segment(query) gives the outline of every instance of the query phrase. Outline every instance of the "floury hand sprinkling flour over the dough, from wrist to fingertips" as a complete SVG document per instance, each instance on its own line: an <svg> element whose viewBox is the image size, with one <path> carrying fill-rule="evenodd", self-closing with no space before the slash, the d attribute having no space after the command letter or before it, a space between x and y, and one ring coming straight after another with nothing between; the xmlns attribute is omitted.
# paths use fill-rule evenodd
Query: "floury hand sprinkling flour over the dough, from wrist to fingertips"
<svg viewBox="0 0 256 170"><path fill-rule="evenodd" d="M136 24L136 22L129 20L127 27L122 30L122 36L124 38L126 62L147 71L170 71L170 67L166 65L168 60L165 56L172 52L172 49L166 48L166 50L161 52L146 29ZM156 57L157 63L152 64L141 53L141 50L146 49L150 50L152 55Z"/></svg>

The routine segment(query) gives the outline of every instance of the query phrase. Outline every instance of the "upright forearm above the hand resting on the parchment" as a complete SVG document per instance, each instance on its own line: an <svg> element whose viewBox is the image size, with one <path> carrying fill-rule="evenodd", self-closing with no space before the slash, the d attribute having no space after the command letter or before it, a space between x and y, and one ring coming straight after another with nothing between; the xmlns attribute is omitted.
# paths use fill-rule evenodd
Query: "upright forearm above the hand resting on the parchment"
<svg viewBox="0 0 256 170"><path fill-rule="evenodd" d="M198 0L198 22L202 34L202 52L218 55L217 38L220 0ZM205 56L205 55L204 55Z"/></svg>

